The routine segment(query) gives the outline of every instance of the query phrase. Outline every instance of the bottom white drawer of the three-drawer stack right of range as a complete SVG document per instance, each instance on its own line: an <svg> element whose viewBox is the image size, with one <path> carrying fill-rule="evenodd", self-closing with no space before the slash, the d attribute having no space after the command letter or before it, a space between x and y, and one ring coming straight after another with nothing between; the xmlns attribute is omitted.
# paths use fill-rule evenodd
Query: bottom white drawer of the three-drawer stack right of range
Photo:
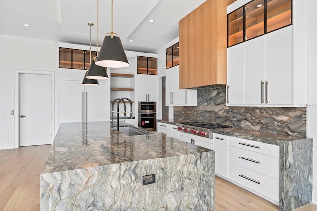
<svg viewBox="0 0 317 211"><path fill-rule="evenodd" d="M228 178L264 196L279 201L279 180L228 162Z"/></svg>

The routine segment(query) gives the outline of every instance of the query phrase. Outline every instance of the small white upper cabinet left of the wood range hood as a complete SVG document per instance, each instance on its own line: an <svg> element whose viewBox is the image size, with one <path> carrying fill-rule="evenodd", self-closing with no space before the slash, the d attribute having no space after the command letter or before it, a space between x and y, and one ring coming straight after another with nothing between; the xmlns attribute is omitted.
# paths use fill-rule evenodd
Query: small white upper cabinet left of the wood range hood
<svg viewBox="0 0 317 211"><path fill-rule="evenodd" d="M179 65L166 70L166 106L197 106L197 90L179 89Z"/></svg>

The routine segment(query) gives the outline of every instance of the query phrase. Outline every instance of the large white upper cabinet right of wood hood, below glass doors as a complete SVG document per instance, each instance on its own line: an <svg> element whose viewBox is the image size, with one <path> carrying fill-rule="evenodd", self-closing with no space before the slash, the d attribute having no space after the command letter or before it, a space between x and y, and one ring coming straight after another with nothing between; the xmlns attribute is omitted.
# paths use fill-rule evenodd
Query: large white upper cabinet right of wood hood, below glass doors
<svg viewBox="0 0 317 211"><path fill-rule="evenodd" d="M292 4L292 25L228 47L227 106L306 106L306 6Z"/></svg>

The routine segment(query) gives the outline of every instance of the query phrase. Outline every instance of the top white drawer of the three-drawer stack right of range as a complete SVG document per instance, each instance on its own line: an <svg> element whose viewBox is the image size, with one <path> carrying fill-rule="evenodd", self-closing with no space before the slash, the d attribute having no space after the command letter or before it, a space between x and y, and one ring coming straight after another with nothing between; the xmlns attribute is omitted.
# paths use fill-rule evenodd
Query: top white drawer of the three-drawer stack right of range
<svg viewBox="0 0 317 211"><path fill-rule="evenodd" d="M228 145L279 158L279 146L247 139L228 137Z"/></svg>

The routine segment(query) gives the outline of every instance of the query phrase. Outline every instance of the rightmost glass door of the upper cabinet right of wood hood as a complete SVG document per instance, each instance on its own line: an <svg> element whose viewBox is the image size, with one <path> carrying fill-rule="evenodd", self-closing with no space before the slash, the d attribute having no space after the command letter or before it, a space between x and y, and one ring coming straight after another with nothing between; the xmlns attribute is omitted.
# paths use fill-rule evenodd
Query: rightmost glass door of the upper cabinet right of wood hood
<svg viewBox="0 0 317 211"><path fill-rule="evenodd" d="M292 24L292 0L267 1L267 32Z"/></svg>

